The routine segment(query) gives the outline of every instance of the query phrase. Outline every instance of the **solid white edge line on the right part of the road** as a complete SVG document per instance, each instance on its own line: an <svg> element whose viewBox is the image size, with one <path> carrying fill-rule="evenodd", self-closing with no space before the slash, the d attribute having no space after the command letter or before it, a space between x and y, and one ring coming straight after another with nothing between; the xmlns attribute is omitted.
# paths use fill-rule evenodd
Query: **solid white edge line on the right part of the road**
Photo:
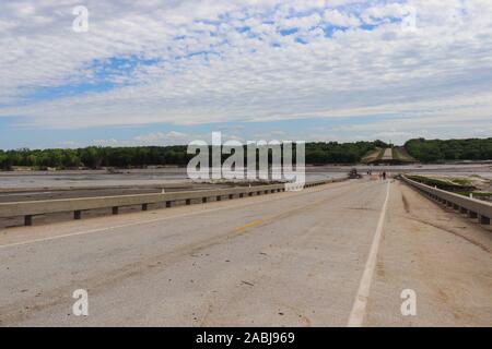
<svg viewBox="0 0 492 349"><path fill-rule="evenodd" d="M365 309L371 290L371 281L373 279L374 269L376 267L377 251L379 250L380 236L383 232L383 226L385 222L385 216L388 206L389 185L390 182L388 181L385 203L383 204L383 208L380 210L376 232L374 233L373 242L371 244L371 251L367 256L367 262L365 263L364 274L362 275L361 282L359 284L358 294L355 296L355 300L353 302L352 311L349 317L349 323L347 324L348 327L361 327L364 322Z"/></svg>

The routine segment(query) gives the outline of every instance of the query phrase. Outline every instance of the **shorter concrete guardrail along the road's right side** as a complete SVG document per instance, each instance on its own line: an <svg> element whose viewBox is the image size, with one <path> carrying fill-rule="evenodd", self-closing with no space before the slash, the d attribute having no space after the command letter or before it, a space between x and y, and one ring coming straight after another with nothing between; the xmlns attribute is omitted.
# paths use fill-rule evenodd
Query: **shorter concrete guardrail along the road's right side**
<svg viewBox="0 0 492 349"><path fill-rule="evenodd" d="M468 215L469 218L478 219L479 222L482 225L490 225L490 219L492 217L492 204L480 200L450 193L448 191L441 190L437 188L432 188L430 185L422 184L411 179L408 179L405 176L401 176L401 179L406 183L418 189L429 198L442 203L447 207L453 207L454 209L459 210L459 213Z"/></svg>

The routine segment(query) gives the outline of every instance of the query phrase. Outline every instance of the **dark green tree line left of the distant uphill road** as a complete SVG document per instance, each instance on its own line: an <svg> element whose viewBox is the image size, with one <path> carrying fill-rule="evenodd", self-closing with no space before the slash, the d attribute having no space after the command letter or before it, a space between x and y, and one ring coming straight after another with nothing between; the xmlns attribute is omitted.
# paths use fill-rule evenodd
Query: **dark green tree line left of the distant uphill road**
<svg viewBox="0 0 492 349"><path fill-rule="evenodd" d="M356 164L370 151L383 147L375 142L311 142L306 143L306 164ZM35 169L57 168L131 168L145 166L186 166L195 154L187 154L186 145L102 147L89 146L77 149L0 149L0 169L32 167ZM224 159L227 155L224 155Z"/></svg>

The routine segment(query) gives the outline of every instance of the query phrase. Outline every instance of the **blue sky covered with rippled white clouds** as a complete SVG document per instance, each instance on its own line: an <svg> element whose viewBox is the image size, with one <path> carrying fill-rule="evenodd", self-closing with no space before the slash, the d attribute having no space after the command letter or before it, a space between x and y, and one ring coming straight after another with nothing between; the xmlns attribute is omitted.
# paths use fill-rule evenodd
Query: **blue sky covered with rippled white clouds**
<svg viewBox="0 0 492 349"><path fill-rule="evenodd" d="M2 0L0 52L3 149L492 136L491 0Z"/></svg>

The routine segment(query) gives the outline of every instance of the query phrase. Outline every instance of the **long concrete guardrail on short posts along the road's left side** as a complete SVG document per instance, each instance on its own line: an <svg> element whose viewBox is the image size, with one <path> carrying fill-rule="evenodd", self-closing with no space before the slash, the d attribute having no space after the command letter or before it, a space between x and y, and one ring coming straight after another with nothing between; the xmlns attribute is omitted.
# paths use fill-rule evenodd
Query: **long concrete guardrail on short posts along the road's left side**
<svg viewBox="0 0 492 349"><path fill-rule="evenodd" d="M308 182L304 188L311 188L331 182L339 182L344 179L330 179ZM113 214L117 215L119 207L141 205L142 210L147 210L150 204L166 203L166 207L171 207L173 202L185 201L186 205L190 205L192 200L200 200L207 203L210 197L221 201L222 197L244 197L245 195L261 195L276 192L284 192L285 183L268 184L256 186L236 186L218 190L203 191L186 191L173 193L155 193L155 194L132 194L132 195L115 195L98 197L78 197L78 198L58 198L58 200L40 200L27 202L0 203L0 218L21 217L24 216L24 225L33 225L33 216L73 212L74 219L82 218L82 212L97 208L112 207Z"/></svg>

